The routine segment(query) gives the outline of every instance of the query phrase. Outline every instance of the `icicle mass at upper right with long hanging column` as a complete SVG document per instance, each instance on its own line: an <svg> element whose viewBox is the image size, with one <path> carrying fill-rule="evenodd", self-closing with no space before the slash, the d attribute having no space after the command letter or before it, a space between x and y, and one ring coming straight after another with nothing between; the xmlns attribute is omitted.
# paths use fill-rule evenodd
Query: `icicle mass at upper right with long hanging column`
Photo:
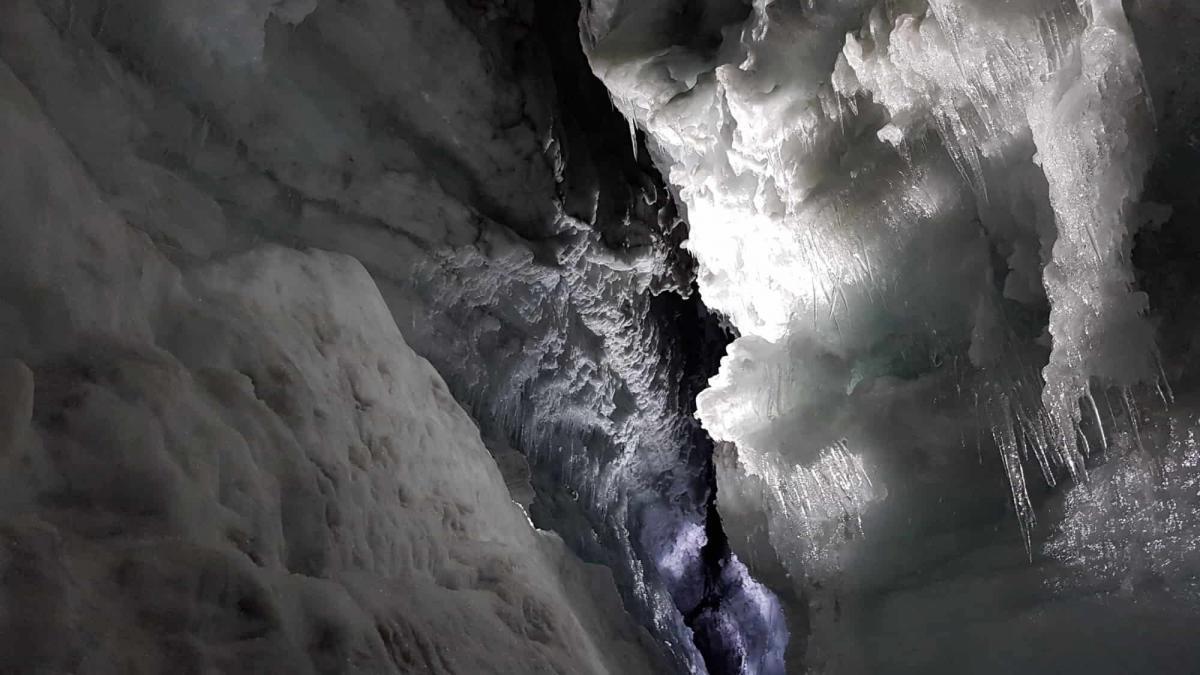
<svg viewBox="0 0 1200 675"><path fill-rule="evenodd" d="M1135 425L1130 389L1159 372L1130 261L1154 118L1118 0L1030 2L1043 10L1022 17L978 5L931 0L924 20L905 16L890 29L872 13L870 38L847 40L839 66L851 72L842 71L839 90L869 91L892 120L932 121L983 204L986 165L1032 138L1052 209L1052 234L1044 235L1052 246L1042 252L1052 348L1040 410L1014 406L994 426L1027 526L1032 507L1019 456L1036 456L1051 484L1058 468L1082 479L1091 453L1080 428L1085 408L1104 442L1093 386L1117 389ZM996 14L1006 19L986 20ZM920 106L924 115L914 113ZM894 124L882 139L907 136ZM1009 406L1003 396L1000 404Z"/></svg>

